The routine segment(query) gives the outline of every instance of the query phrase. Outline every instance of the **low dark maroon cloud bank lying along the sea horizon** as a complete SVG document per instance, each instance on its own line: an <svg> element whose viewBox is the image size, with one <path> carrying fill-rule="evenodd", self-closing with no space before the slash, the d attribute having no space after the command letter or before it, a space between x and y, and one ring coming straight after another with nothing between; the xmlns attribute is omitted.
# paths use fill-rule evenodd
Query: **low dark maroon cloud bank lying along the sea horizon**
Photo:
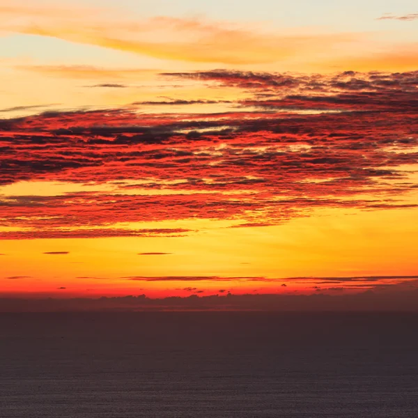
<svg viewBox="0 0 418 418"><path fill-rule="evenodd" d="M319 289L318 289L319 290ZM13 311L415 311L418 289L400 292L366 291L355 295L210 295L164 297L146 295L72 299L0 299L1 312Z"/></svg>

